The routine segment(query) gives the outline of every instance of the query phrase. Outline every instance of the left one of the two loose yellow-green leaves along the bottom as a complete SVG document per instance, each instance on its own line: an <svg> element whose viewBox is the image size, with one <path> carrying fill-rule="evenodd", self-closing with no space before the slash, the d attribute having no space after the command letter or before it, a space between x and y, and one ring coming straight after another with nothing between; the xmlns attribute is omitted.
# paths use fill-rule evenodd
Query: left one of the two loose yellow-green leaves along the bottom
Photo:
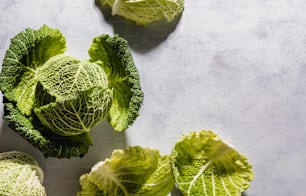
<svg viewBox="0 0 306 196"><path fill-rule="evenodd" d="M110 159L97 163L80 178L87 195L165 196L174 186L170 158L158 150L129 147L115 150Z"/></svg>

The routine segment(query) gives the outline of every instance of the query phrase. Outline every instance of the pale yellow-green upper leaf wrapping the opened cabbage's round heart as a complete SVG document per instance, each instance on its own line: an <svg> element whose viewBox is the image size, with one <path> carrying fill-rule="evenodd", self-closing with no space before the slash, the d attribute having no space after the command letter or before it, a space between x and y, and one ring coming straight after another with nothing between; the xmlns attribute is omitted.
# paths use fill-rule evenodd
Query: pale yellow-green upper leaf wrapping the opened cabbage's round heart
<svg viewBox="0 0 306 196"><path fill-rule="evenodd" d="M51 96L65 100L93 86L107 88L107 76L95 63L68 55L56 55L37 71L37 78Z"/></svg>

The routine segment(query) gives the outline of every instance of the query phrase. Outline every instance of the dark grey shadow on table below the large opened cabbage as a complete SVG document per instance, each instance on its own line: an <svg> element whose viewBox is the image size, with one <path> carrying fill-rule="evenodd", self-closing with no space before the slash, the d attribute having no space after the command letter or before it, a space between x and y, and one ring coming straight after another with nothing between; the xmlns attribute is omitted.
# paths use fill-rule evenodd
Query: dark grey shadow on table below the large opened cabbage
<svg viewBox="0 0 306 196"><path fill-rule="evenodd" d="M114 149L127 147L125 132L114 131L106 120L91 129L93 146L82 158L46 158L43 153L9 128L5 120L0 133L0 152L17 150L28 153L38 161L44 172L43 185L47 195L75 195L81 190L79 184L81 175L88 173L97 162L109 158Z"/></svg>

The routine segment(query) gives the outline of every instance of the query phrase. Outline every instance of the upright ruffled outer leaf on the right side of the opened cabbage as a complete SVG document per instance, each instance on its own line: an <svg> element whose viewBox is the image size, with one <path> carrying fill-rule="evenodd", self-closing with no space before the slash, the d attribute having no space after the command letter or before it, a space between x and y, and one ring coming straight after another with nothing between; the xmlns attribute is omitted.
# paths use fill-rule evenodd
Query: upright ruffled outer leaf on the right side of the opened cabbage
<svg viewBox="0 0 306 196"><path fill-rule="evenodd" d="M88 53L89 61L104 69L109 88L114 89L108 121L116 131L124 131L139 116L144 97L128 43L118 35L102 34L93 39Z"/></svg>

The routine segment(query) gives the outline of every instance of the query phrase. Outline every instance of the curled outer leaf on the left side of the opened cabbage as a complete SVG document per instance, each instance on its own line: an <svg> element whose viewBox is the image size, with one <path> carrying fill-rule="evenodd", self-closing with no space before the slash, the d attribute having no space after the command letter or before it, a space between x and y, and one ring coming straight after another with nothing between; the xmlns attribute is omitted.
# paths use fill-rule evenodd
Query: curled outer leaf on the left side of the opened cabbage
<svg viewBox="0 0 306 196"><path fill-rule="evenodd" d="M11 39L3 59L0 88L22 114L30 115L34 107L36 70L65 50L61 32L46 25L38 30L27 28Z"/></svg>

